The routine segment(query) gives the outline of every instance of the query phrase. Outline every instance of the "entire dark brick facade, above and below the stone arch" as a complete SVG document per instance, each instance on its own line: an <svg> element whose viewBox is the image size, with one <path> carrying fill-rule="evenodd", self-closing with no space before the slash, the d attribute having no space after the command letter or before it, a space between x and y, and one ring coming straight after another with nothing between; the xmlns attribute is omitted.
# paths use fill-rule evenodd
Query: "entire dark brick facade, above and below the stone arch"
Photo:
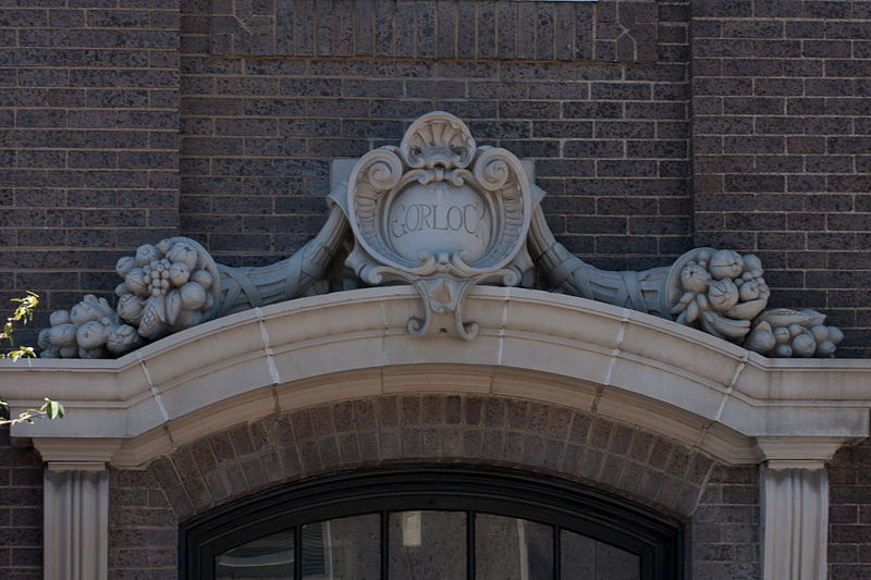
<svg viewBox="0 0 871 580"><path fill-rule="evenodd" d="M32 328L85 292L111 297L115 260L145 242L187 235L231 266L285 257L322 223L330 160L396 144L442 109L535 160L549 223L585 260L638 270L699 245L755 251L773 305L820 309L845 330L841 356L871 355L871 2L7 3L0 303L38 292ZM309 409L113 471L111 577L174 578L180 517L404 459L593 482L683 514L698 578L759 577L755 469L601 419L581 444L584 416L554 425L555 408L544 421L493 399L476 423L474 400ZM375 415L388 402L393 415ZM867 451L830 471L832 578L871 573ZM0 576L39 578L38 457L4 439L0 457Z"/></svg>

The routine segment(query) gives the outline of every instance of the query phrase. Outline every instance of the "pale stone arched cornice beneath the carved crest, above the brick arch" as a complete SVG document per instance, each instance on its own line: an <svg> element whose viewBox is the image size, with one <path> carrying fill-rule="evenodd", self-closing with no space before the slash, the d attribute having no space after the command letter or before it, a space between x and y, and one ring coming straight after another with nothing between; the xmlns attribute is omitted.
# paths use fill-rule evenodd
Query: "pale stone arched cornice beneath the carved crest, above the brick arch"
<svg viewBox="0 0 871 580"><path fill-rule="evenodd" d="M15 425L13 435L56 448L61 440L83 449L93 441L98 460L107 440L120 440L111 461L125 466L275 411L403 392L564 405L733 464L821 459L794 456L800 444L788 457L772 456L758 445L772 437L869 434L867 360L768 359L657 317L520 288L471 293L466 311L480 324L473 341L409 337L407 320L420 309L408 286L302 298L213 320L116 360L3 361L0 391L13 411L49 396L69 412Z"/></svg>

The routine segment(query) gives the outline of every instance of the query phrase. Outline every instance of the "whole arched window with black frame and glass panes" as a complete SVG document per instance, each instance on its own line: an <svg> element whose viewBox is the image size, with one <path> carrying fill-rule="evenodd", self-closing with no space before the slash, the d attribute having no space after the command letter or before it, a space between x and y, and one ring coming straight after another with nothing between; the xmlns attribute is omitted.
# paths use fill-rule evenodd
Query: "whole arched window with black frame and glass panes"
<svg viewBox="0 0 871 580"><path fill-rule="evenodd" d="M678 521L564 480L458 466L312 478L185 522L185 580L678 579Z"/></svg>

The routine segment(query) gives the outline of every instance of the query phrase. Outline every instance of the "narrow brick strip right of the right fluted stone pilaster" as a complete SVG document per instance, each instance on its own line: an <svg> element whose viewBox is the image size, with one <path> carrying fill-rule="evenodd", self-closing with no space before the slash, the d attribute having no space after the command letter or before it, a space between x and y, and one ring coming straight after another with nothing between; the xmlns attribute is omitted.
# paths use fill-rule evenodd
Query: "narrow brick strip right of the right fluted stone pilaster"
<svg viewBox="0 0 871 580"><path fill-rule="evenodd" d="M871 443L835 454L829 501L829 578L871 577Z"/></svg>

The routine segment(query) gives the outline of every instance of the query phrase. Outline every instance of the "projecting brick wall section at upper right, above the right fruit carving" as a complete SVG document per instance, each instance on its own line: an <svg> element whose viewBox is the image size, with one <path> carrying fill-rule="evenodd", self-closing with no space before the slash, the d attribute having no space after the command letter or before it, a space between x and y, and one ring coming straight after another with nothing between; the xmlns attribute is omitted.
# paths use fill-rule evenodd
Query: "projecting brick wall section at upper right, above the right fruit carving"
<svg viewBox="0 0 871 580"><path fill-rule="evenodd" d="M871 2L692 2L695 242L871 346Z"/></svg>

